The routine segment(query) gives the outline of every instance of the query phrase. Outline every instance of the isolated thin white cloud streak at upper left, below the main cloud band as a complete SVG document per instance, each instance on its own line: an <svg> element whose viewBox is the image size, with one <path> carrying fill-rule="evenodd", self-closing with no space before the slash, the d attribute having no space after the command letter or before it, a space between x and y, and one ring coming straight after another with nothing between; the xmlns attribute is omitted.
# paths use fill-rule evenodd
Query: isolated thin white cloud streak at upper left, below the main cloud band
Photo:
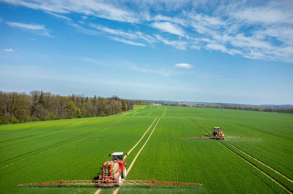
<svg viewBox="0 0 293 194"><path fill-rule="evenodd" d="M30 30L32 33L41 35L41 36L47 36L47 37L53 37L48 33L48 30L45 28L44 25L40 24L27 24L27 23L21 23L21 22L6 22L11 27L18 27L23 30Z"/></svg>

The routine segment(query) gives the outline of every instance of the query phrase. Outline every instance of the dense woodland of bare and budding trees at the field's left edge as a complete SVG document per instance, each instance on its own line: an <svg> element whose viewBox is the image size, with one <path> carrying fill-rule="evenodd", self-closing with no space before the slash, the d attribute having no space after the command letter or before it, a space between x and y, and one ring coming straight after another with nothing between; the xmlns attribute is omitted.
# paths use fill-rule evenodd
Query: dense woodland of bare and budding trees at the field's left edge
<svg viewBox="0 0 293 194"><path fill-rule="evenodd" d="M61 96L39 90L29 94L0 91L0 124L109 116L131 110L135 103L142 102L117 96L88 98L83 94Z"/></svg>

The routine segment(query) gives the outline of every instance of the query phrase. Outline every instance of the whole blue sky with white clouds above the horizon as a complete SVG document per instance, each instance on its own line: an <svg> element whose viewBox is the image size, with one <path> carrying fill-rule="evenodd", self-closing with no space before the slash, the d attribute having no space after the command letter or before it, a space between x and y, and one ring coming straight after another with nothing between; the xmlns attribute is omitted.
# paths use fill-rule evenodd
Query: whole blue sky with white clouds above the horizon
<svg viewBox="0 0 293 194"><path fill-rule="evenodd" d="M293 1L0 0L0 90L293 104Z"/></svg>

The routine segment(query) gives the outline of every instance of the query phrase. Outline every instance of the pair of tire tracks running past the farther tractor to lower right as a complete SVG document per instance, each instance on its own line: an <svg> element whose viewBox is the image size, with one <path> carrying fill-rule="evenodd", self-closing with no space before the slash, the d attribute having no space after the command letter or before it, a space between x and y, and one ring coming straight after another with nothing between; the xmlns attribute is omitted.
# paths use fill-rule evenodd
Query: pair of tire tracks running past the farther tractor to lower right
<svg viewBox="0 0 293 194"><path fill-rule="evenodd" d="M199 125L201 125L202 127L204 127L205 129L208 129L208 128L206 128L205 126L203 126L202 124L200 124L198 121L196 121L195 119L193 119L193 120L194 120L196 123L198 123ZM195 123L195 122L194 122L194 123ZM196 123L195 123L195 124L196 124ZM197 125L197 124L196 124L196 125ZM197 126L199 126L199 125L197 125ZM200 126L199 126L199 127L200 127ZM203 130L203 129L202 129L202 130ZM209 130L209 129L208 129L208 130ZM205 131L205 132L206 132L206 131ZM209 132L211 132L211 131L209 130ZM207 132L206 132L206 133L207 133ZM211 133L212 133L212 132L211 132ZM209 133L207 133L207 134L209 134ZM226 140L224 140L224 141L227 142ZM275 183L277 183L279 186L281 186L281 187L282 187L283 189L285 189L287 192L289 192L289 193L292 194L292 192L290 192L289 190L287 190L287 189L286 189L283 185L281 185L281 183L279 183L277 180L273 179L272 176L269 175L267 172L262 171L261 169L259 169L258 167L256 167L254 164L252 164L250 161L248 161L247 159L245 159L243 156L241 156L241 155L239 155L238 153L236 153L236 152L232 151L231 149L227 148L225 145L223 145L223 144L220 143L219 141L217 141L217 142L218 142L219 144L221 144L222 146L224 146L227 150L231 151L232 153L236 154L236 155L239 156L241 159L243 159L244 161L246 161L247 163L249 163L249 164L250 164L251 166L253 166L255 169L257 169L258 171L260 171L260 172L262 172L263 174L265 174L267 177L269 177L272 181L274 181ZM251 156L250 154L246 153L245 151L242 151L242 150L236 148L235 146L233 146L233 145L230 144L229 142L227 142L227 143L228 143L229 145L231 145L232 147L234 147L235 149L237 149L237 150L241 151L242 153L246 154L247 156L251 157L252 159L256 160L256 161L259 162L260 164L262 164L262 165L268 167L268 168L271 169L273 172L276 172L277 174L283 176L284 178L286 178L286 179L289 180L290 182L293 182L293 181L292 181L290 178L288 178L287 176L285 176L285 175L283 175L282 173L280 173L280 172L278 172L278 171L272 169L272 167L266 165L265 163L261 162L260 160L258 160L258 159L256 159L256 158L254 158L253 156Z"/></svg>

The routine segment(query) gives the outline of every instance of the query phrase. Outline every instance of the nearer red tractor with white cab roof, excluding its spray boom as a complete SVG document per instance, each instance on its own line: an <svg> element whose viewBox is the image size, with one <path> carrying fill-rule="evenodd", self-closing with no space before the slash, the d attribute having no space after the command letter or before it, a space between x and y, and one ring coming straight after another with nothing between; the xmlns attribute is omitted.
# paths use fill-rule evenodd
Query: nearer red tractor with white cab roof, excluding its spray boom
<svg viewBox="0 0 293 194"><path fill-rule="evenodd" d="M103 183L108 185L117 185L118 187L122 184L122 178L126 178L126 166L124 155L127 153L124 152L113 152L111 161L105 161L102 164L102 173L100 174L99 180L102 180ZM117 184L118 183L118 184Z"/></svg>

